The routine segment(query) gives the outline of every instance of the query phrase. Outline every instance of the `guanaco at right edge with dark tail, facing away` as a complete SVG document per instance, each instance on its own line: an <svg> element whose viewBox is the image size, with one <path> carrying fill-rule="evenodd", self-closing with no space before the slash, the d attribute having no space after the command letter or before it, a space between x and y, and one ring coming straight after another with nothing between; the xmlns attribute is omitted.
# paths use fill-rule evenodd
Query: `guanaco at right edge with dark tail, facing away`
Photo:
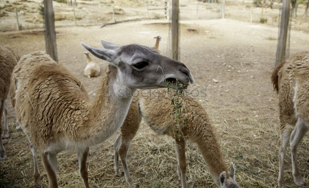
<svg viewBox="0 0 309 188"><path fill-rule="evenodd" d="M309 52L300 53L281 63L273 71L271 80L278 94L280 110L278 186L286 188L284 157L289 141L294 182L299 186L307 186L298 171L297 147L309 129Z"/></svg>

